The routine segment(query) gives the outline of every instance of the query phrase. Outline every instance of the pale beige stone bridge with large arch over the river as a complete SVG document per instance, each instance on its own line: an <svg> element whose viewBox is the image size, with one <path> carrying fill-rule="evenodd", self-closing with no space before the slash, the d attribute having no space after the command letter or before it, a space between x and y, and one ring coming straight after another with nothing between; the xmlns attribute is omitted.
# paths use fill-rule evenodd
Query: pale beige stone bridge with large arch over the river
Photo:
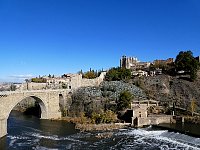
<svg viewBox="0 0 200 150"><path fill-rule="evenodd" d="M7 119L13 108L23 99L32 97L40 105L41 119L60 118L59 103L70 90L33 90L0 92L0 138L7 134Z"/></svg>

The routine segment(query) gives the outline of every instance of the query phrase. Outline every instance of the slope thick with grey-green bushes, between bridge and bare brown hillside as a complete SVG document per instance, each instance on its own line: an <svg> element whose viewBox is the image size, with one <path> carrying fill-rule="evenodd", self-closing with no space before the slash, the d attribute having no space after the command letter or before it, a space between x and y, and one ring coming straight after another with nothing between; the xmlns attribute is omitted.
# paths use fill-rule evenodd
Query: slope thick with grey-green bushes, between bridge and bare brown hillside
<svg viewBox="0 0 200 150"><path fill-rule="evenodd" d="M104 109L115 111L116 102L123 91L129 91L137 99L147 98L145 92L132 83L103 81L98 87L83 87L73 92L69 116L79 116L80 112L89 116Z"/></svg>

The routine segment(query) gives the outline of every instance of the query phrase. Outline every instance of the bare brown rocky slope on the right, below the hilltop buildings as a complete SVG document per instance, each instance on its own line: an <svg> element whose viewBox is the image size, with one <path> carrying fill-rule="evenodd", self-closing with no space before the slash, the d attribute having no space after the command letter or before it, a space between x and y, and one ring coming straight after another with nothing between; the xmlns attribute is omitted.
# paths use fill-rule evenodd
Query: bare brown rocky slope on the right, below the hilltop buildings
<svg viewBox="0 0 200 150"><path fill-rule="evenodd" d="M162 104L172 105L176 102L177 106L187 109L191 99L195 99L200 106L200 72L194 82L184 77L168 75L137 78L134 82L145 91L148 98L158 100Z"/></svg>

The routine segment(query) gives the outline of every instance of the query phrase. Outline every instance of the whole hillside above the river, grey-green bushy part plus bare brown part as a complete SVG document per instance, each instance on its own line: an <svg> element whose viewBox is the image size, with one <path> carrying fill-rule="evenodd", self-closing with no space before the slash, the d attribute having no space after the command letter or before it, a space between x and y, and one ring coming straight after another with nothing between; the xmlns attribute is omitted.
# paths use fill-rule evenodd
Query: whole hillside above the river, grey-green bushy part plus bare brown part
<svg viewBox="0 0 200 150"><path fill-rule="evenodd" d="M98 87L79 88L72 94L69 116L79 116L85 112L111 109L116 111L116 102L122 91L129 91L135 100L154 99L162 105L173 105L188 109L194 98L200 106L200 72L195 82L183 77L158 75L154 77L138 77L124 81L103 81Z"/></svg>

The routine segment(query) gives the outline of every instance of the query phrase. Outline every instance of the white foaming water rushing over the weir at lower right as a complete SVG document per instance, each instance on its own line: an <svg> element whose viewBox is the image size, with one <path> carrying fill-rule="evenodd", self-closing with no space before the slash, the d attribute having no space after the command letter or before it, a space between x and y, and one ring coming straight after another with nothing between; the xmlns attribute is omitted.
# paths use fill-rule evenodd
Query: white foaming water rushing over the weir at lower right
<svg viewBox="0 0 200 150"><path fill-rule="evenodd" d="M127 149L131 145L146 145L160 149L195 149L200 150L200 139L188 135L168 132L167 130L148 131L146 129L131 129L118 135L132 136L134 140L124 144ZM120 144L123 142L121 141Z"/></svg>

